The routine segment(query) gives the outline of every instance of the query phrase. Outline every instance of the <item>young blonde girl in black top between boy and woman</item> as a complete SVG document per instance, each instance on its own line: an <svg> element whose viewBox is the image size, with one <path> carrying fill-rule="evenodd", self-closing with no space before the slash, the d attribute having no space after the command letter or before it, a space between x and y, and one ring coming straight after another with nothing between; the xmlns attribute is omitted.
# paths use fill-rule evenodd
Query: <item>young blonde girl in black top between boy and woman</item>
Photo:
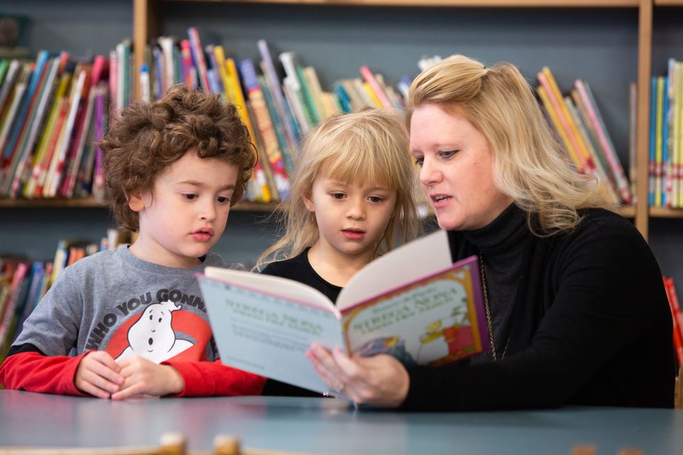
<svg viewBox="0 0 683 455"><path fill-rule="evenodd" d="M416 237L415 189L398 112L373 109L330 118L301 146L281 211L285 233L256 268L303 282L336 301L363 266ZM263 393L315 395L270 380Z"/></svg>

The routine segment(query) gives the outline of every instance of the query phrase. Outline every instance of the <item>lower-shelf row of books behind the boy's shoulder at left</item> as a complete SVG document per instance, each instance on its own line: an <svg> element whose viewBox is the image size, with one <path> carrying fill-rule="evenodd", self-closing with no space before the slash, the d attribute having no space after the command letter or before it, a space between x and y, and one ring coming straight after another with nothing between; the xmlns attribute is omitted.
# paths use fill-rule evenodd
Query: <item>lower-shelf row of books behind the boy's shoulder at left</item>
<svg viewBox="0 0 683 455"><path fill-rule="evenodd" d="M0 362L21 331L26 317L45 296L65 267L100 250L113 250L130 238L121 230L110 229L99 242L63 239L52 261L0 257Z"/></svg>

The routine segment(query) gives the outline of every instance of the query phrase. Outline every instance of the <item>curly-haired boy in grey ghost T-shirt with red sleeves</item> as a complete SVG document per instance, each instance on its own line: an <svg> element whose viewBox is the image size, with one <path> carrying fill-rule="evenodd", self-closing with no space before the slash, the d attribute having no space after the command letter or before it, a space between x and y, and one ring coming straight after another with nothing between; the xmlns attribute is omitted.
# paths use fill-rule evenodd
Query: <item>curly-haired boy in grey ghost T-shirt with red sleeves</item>
<svg viewBox="0 0 683 455"><path fill-rule="evenodd" d="M259 394L265 378L218 359L194 277L230 266L209 249L256 163L235 106L175 86L125 109L100 147L113 213L139 236L61 273L24 323L0 383L115 400Z"/></svg>

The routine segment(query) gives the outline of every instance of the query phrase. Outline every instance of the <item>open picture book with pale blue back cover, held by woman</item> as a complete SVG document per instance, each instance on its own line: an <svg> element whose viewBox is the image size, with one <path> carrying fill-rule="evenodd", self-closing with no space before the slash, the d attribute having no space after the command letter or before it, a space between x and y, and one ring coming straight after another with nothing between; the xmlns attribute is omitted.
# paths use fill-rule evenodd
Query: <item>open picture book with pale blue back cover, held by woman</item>
<svg viewBox="0 0 683 455"><path fill-rule="evenodd" d="M285 278L216 267L197 274L223 363L329 394L305 356L313 342L388 353L407 367L487 351L479 276L476 256L451 262L444 231L363 267L336 305Z"/></svg>

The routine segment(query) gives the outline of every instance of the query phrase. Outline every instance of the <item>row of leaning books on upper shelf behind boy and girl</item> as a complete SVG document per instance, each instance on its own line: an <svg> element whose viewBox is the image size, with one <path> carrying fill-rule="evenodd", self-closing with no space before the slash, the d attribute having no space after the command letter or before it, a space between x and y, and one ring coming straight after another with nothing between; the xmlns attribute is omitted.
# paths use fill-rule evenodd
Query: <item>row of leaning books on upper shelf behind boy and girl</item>
<svg viewBox="0 0 683 455"><path fill-rule="evenodd" d="M124 42L117 49L127 46ZM173 84L186 83L220 93L242 108L240 115L260 155L249 188L250 200L271 202L285 197L298 144L322 120L366 107L405 106L401 90L407 90L407 78L395 89L385 83L382 74L362 66L358 77L336 81L331 90L324 90L315 68L303 65L295 52L276 54L265 40L259 40L257 47L260 61L236 61L226 56L221 45L203 45L200 33L190 27L187 38L162 36L154 40L139 74L143 99L160 97ZM126 52L116 55L125 58ZM121 63L116 65L118 75L125 78L130 72L121 70ZM112 99L125 102L128 82L116 84Z"/></svg>

